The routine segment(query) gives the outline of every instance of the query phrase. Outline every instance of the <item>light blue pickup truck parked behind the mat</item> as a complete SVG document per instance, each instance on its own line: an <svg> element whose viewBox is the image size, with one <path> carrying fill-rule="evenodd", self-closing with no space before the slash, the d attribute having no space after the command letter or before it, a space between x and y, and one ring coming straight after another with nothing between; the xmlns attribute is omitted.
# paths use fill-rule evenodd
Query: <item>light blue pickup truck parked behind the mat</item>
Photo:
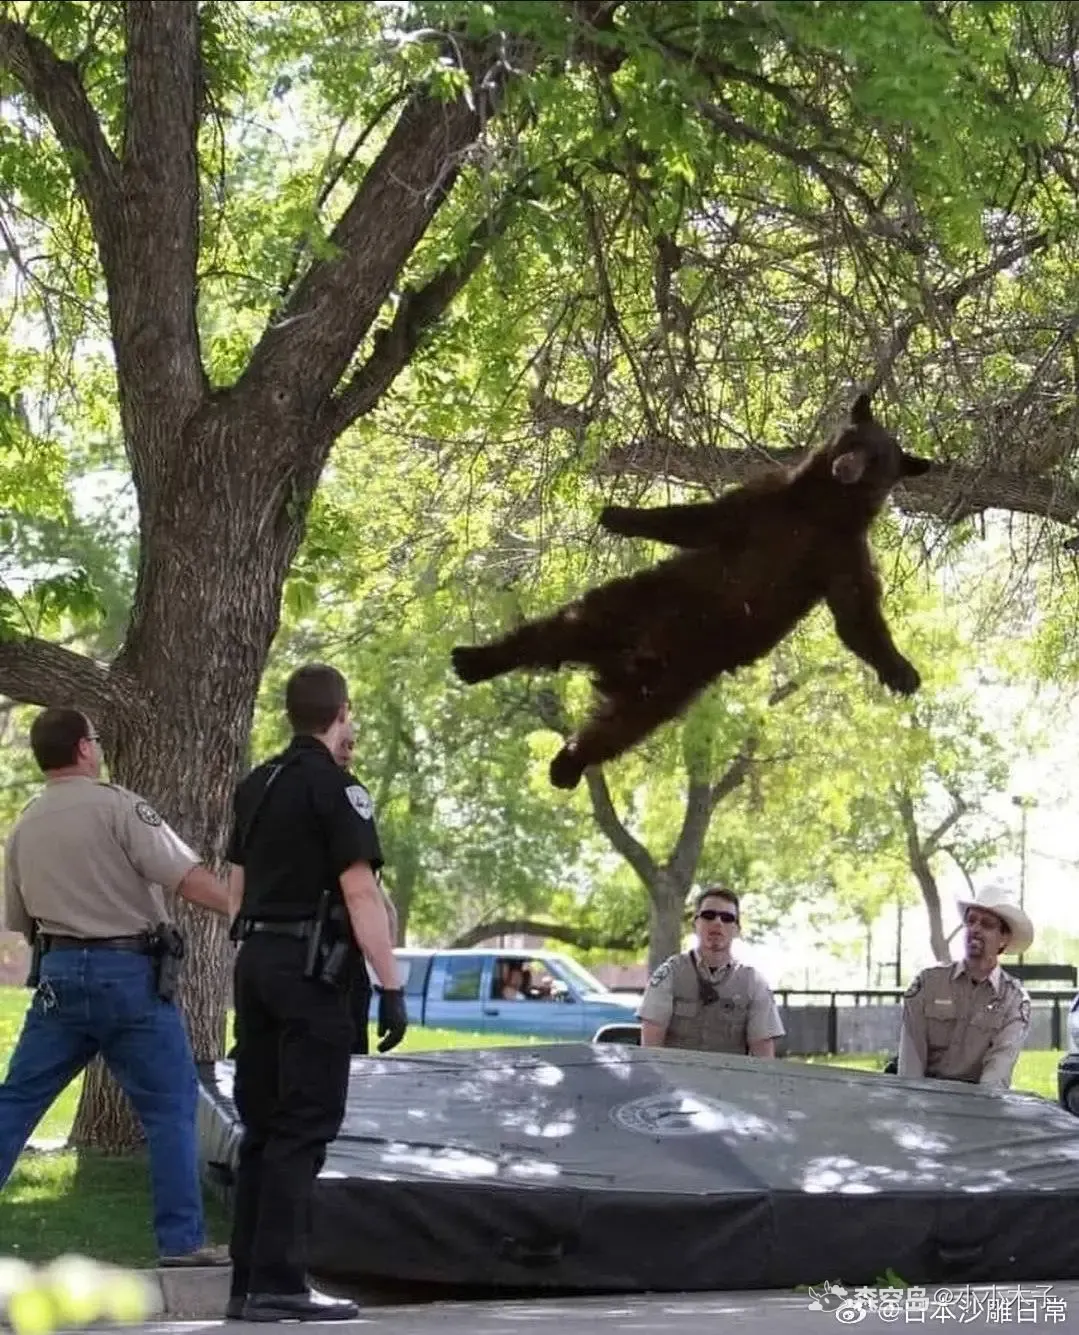
<svg viewBox="0 0 1079 1335"><path fill-rule="evenodd" d="M407 973L409 1023L522 1037L589 1041L606 1024L633 1024L638 996L609 992L549 951L394 952Z"/></svg>

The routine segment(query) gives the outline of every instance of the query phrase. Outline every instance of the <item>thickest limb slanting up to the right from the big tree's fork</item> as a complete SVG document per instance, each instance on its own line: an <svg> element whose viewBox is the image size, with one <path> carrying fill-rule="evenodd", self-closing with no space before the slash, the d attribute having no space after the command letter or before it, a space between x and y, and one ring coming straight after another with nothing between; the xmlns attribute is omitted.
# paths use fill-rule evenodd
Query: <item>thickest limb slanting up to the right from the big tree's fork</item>
<svg viewBox="0 0 1079 1335"><path fill-rule="evenodd" d="M345 374L398 274L453 188L493 115L506 71L523 51L454 43L470 91L441 100L419 89L312 264L259 340L244 374L275 395L318 413Z"/></svg>

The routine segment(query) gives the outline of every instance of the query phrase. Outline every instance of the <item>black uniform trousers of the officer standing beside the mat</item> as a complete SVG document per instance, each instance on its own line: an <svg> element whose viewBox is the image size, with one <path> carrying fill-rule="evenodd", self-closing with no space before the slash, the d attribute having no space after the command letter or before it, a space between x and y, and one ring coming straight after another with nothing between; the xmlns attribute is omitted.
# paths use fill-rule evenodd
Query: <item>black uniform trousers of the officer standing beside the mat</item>
<svg viewBox="0 0 1079 1335"><path fill-rule="evenodd" d="M232 1296L308 1288L311 1200L345 1117L353 1017L351 980L306 980L306 953L303 940L258 933L236 955Z"/></svg>

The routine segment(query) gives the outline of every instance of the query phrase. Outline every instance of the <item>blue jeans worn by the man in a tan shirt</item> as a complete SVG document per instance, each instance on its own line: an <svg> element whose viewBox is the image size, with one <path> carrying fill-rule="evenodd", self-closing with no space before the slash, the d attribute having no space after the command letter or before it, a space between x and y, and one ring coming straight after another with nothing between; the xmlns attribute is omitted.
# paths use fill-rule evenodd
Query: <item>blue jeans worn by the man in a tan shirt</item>
<svg viewBox="0 0 1079 1335"><path fill-rule="evenodd" d="M33 1128L100 1052L146 1132L162 1256L203 1246L198 1075L180 1012L154 961L124 951L49 951L0 1085L0 1187Z"/></svg>

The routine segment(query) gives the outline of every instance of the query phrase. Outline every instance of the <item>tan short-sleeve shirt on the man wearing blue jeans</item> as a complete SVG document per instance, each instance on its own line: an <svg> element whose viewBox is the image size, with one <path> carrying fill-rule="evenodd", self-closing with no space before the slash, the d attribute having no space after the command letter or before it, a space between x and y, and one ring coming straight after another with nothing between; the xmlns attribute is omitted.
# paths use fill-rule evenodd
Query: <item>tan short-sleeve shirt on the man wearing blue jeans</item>
<svg viewBox="0 0 1079 1335"><path fill-rule="evenodd" d="M164 892L202 858L154 808L93 778L52 780L23 810L4 853L4 918L29 937L136 936L168 921Z"/></svg>

